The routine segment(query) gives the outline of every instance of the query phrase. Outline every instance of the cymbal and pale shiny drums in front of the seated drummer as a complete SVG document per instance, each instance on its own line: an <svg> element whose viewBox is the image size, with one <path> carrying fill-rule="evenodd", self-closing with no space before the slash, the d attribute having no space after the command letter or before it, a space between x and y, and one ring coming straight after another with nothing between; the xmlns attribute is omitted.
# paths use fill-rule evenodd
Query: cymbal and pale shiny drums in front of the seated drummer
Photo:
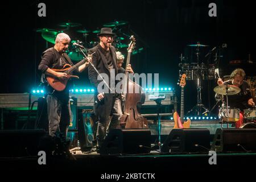
<svg viewBox="0 0 256 182"><path fill-rule="evenodd" d="M222 127L222 123L224 123L224 122L226 122L227 127L229 127L230 122L239 121L240 109L235 108L235 107L230 108L228 106L228 96L240 93L241 89L234 85L222 84L222 85L216 86L213 90L217 94L226 96L226 108L221 107L220 111L219 111L219 117L221 117L221 127ZM256 110L255 109L245 109L243 111L243 113L244 113L245 123L241 126L241 128L248 128L249 126L256 127L256 123L254 123L254 121L256 121Z"/></svg>

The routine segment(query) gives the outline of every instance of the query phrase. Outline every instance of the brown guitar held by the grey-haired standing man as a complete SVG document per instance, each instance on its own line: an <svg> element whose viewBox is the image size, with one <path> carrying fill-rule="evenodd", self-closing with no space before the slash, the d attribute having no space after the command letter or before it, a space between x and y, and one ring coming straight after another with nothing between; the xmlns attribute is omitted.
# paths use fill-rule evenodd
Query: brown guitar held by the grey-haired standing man
<svg viewBox="0 0 256 182"><path fill-rule="evenodd" d="M87 59L81 60L79 63L73 65L73 67L70 64L65 64L62 69L52 69L55 72L63 72L67 73L68 78L64 80L60 80L59 78L53 77L53 76L46 76L46 80L48 84L57 91L62 91L66 88L67 82L69 78L79 78L78 76L73 76L71 73L76 70L77 67L80 67L82 64L84 64L87 61Z"/></svg>

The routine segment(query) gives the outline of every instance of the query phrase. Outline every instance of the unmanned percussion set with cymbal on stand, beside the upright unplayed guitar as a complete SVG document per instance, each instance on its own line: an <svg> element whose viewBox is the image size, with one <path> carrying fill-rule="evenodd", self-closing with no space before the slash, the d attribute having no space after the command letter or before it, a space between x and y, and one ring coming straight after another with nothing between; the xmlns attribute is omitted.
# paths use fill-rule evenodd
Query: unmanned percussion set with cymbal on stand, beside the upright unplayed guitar
<svg viewBox="0 0 256 182"><path fill-rule="evenodd" d="M201 81L202 80L214 80L216 78L216 68L215 64L210 64L209 60L208 63L205 64L200 63L200 49L209 47L208 45L200 44L200 42L197 42L197 44L189 44L187 45L191 48L196 48L195 55L196 55L196 61L195 63L183 63L184 61L187 61L184 59L183 55L180 56L180 63L179 67L180 69L180 75L186 74L187 80L194 80L197 82L197 105L192 107L190 111L188 111L188 115L204 115L206 113L209 113L209 110L202 104L201 99ZM207 53L205 57L210 57L215 47Z"/></svg>

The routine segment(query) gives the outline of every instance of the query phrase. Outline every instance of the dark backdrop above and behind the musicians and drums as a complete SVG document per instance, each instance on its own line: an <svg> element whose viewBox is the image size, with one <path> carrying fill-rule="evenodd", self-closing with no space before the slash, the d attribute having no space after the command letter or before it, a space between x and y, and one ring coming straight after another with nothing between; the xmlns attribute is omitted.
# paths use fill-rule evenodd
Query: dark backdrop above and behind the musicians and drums
<svg viewBox="0 0 256 182"><path fill-rule="evenodd" d="M38 3L46 3L46 17L38 16ZM209 3L217 5L217 17L209 17ZM195 62L195 49L187 44L207 44L202 48L200 62L207 63L204 55L213 47L221 49L221 76L229 75L234 68L242 67L247 75L254 76L255 68L246 64L230 65L230 60L246 63L249 53L255 55L255 6L253 1L205 1L205 0L144 0L144 1L28 1L7 2L1 6L2 23L2 68L0 73L1 93L30 92L40 84L37 70L40 55L46 49L46 41L38 28L53 28L63 22L81 23L66 31L71 39L82 39L76 30L96 30L114 20L126 20L122 26L125 34L134 34L137 47L143 51L131 56L131 64L138 73L159 73L160 86L171 86L180 95L176 85L179 77L180 53ZM89 40L97 40L89 34ZM129 43L126 38L123 43ZM48 47L53 44L48 43ZM126 50L121 50L126 55ZM210 61L212 61L211 59ZM254 64L255 65L255 64ZM215 80L203 81L203 103L214 105L212 89ZM75 81L75 86L90 87L87 69ZM185 88L187 109L196 104L196 83L187 81Z"/></svg>

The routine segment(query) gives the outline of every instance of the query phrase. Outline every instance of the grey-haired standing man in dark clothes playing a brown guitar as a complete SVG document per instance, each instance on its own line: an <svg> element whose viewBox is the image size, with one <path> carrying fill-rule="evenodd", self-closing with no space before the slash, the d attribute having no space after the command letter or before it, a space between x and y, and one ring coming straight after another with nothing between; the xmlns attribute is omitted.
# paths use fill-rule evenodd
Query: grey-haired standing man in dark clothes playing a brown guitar
<svg viewBox="0 0 256 182"><path fill-rule="evenodd" d="M71 59L65 53L67 51L71 39L67 34L60 33L56 36L55 46L47 49L42 54L42 60L39 64L39 71L42 72L42 82L46 83L45 76L58 78L59 80L68 79L67 73L56 72L53 69L62 69L65 64L73 65ZM88 62L82 64L77 71L82 72L88 67ZM69 105L69 86L68 82L63 91L57 91L49 85L47 88L47 110L49 121L49 135L56 137L57 133L61 133L67 137L69 122L71 120L71 108Z"/></svg>

